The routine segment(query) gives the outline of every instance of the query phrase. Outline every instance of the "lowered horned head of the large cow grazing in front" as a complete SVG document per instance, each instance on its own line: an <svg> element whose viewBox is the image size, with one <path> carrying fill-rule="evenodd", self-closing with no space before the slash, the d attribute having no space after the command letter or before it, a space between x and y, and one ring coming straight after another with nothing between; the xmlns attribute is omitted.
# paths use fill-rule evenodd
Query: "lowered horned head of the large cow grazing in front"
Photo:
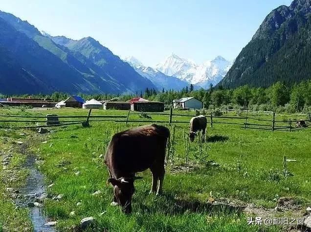
<svg viewBox="0 0 311 232"><path fill-rule="evenodd" d="M134 181L138 179L142 179L142 177L108 179L108 183L113 186L113 194L125 213L132 212L132 196L135 192Z"/></svg>

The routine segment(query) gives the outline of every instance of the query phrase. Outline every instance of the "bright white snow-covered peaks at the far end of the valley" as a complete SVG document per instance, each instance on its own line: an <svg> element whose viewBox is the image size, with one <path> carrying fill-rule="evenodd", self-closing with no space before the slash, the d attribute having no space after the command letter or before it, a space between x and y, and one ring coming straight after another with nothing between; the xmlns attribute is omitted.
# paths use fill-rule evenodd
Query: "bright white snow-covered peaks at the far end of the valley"
<svg viewBox="0 0 311 232"><path fill-rule="evenodd" d="M216 85L221 81L231 65L232 62L227 61L222 56L217 56L213 60L197 65L193 61L180 58L172 53L163 62L156 65L155 69L166 75L175 76L180 80L207 88L211 83Z"/></svg>

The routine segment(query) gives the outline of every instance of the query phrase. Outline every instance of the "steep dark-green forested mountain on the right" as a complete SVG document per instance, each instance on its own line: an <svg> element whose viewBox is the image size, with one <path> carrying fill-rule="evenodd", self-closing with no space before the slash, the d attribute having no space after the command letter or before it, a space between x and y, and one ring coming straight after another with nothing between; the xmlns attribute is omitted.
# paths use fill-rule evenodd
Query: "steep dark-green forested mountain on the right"
<svg viewBox="0 0 311 232"><path fill-rule="evenodd" d="M268 87L311 78L311 0L294 0L267 15L219 85Z"/></svg>

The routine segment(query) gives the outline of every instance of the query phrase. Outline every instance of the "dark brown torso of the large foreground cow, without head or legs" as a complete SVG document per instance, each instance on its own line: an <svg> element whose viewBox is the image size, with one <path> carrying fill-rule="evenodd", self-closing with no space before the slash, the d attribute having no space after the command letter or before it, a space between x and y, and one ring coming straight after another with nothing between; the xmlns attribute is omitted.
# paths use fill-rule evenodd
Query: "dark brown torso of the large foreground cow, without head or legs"
<svg viewBox="0 0 311 232"><path fill-rule="evenodd" d="M164 163L169 136L168 128L155 124L117 133L111 138L105 162L122 174L146 170L154 162Z"/></svg>

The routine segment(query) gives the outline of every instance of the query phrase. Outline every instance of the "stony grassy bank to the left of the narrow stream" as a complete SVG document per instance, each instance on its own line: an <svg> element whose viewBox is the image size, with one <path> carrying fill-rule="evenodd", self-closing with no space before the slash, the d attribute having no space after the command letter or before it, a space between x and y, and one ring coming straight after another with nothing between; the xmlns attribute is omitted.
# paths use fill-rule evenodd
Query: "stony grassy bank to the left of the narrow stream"
<svg viewBox="0 0 311 232"><path fill-rule="evenodd" d="M25 155L15 141L25 141L25 136L12 130L0 130L0 232L32 231L28 209L15 205L14 193L24 185L27 170L22 168Z"/></svg>

